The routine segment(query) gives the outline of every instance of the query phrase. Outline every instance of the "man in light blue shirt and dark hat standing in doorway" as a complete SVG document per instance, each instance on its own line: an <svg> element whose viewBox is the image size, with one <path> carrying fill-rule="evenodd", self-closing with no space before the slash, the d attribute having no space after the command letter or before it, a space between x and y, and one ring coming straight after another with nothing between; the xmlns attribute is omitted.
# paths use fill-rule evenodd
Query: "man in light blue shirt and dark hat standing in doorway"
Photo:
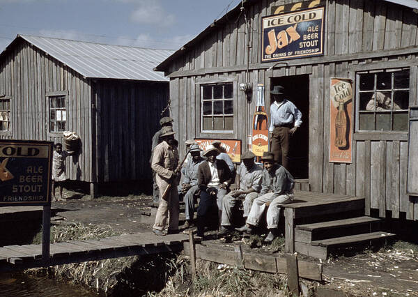
<svg viewBox="0 0 418 297"><path fill-rule="evenodd" d="M272 101L274 101L270 106L270 128L268 130L272 144L271 151L274 153L274 160L288 169L291 136L302 124L302 113L291 101L284 98L283 86L274 86L270 94Z"/></svg>

